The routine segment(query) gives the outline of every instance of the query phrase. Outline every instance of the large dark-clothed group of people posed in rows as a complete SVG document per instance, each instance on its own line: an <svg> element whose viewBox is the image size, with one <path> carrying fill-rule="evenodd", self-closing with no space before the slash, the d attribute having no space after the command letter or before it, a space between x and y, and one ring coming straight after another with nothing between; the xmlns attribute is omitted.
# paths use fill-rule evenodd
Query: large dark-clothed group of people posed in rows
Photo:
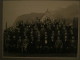
<svg viewBox="0 0 80 60"><path fill-rule="evenodd" d="M76 32L76 33L75 33ZM4 35L6 50L22 52L71 51L77 49L77 29L63 24L32 24L23 23L14 29L6 30ZM47 52L48 52L47 51Z"/></svg>

